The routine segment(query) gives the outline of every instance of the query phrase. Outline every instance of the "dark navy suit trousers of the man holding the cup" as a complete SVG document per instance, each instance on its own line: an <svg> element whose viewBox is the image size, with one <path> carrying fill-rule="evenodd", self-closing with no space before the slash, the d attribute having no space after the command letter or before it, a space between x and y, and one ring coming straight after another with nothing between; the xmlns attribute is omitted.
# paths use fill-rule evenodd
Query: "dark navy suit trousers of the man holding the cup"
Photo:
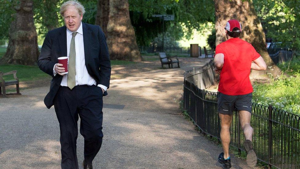
<svg viewBox="0 0 300 169"><path fill-rule="evenodd" d="M102 144L103 93L95 85L79 85L72 90L60 87L54 108L60 127L61 168L78 169L76 140L77 121L80 117L80 134L84 137L84 158L92 163Z"/></svg>

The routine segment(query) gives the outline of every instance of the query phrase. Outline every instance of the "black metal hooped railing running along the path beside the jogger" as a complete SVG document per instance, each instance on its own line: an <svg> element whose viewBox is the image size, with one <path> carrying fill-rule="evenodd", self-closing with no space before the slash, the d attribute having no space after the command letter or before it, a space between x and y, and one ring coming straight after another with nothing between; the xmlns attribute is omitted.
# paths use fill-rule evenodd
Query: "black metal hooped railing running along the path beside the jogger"
<svg viewBox="0 0 300 169"><path fill-rule="evenodd" d="M184 74L184 109L203 132L220 139L217 92L199 89ZM235 112L230 144L244 151L244 135ZM258 159L269 167L300 168L300 117L272 106L252 104L253 146Z"/></svg>

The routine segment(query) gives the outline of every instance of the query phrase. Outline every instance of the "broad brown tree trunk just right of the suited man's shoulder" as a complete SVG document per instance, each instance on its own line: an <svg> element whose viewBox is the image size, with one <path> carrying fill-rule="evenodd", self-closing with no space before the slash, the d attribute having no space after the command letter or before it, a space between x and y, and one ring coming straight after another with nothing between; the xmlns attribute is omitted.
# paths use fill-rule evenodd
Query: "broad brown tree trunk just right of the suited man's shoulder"
<svg viewBox="0 0 300 169"><path fill-rule="evenodd" d="M128 0L110 0L107 44L111 59L141 61L129 18Z"/></svg>

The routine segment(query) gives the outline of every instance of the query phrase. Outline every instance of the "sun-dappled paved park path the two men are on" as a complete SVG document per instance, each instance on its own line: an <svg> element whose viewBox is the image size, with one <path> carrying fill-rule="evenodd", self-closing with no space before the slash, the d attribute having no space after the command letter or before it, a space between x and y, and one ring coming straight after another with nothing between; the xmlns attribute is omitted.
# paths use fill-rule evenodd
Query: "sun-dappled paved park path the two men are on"
<svg viewBox="0 0 300 169"><path fill-rule="evenodd" d="M221 168L222 148L184 119L178 103L184 71L207 61L180 58L180 69L159 69L159 61L113 66L113 74L122 76L111 80L104 97L104 139L94 168ZM1 169L60 168L59 125L54 108L43 103L48 90L47 85L0 98ZM233 168L248 168L231 156ZM80 134L77 157L81 163Z"/></svg>

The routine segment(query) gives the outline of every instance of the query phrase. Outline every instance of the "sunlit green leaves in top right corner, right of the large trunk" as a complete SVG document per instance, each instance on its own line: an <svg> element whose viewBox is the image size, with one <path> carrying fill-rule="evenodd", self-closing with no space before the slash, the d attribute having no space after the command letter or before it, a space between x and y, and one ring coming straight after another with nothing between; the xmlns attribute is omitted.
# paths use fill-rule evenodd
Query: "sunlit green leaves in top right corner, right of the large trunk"
<svg viewBox="0 0 300 169"><path fill-rule="evenodd" d="M300 1L253 0L266 38L273 42L292 42L293 49L300 48Z"/></svg>

